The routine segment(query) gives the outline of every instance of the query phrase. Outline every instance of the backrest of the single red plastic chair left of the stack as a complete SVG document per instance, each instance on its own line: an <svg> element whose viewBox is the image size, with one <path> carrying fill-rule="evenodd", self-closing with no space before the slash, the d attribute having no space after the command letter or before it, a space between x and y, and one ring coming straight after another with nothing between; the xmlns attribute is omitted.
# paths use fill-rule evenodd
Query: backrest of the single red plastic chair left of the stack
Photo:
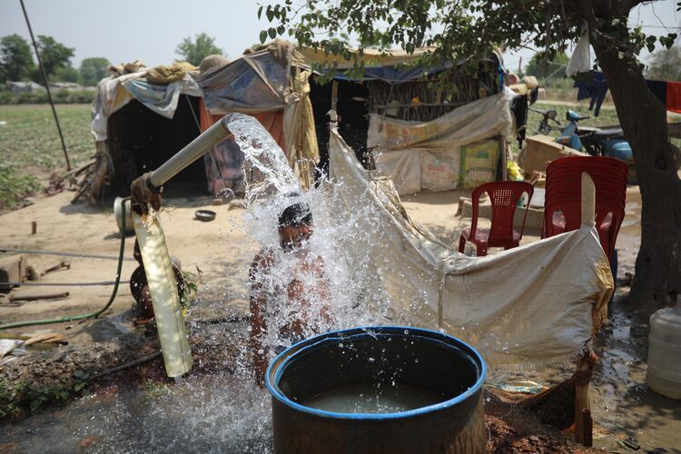
<svg viewBox="0 0 681 454"><path fill-rule="evenodd" d="M534 187L524 182L492 182L479 185L472 194L473 220L470 226L470 237L475 238L478 227L479 199L483 192L489 195L492 204L492 225L489 229L488 243L513 241L513 216L518 201L524 192L528 193L528 201L532 198ZM527 209L525 216L528 215ZM523 229L525 218L523 218ZM522 232L521 232L522 234Z"/></svg>

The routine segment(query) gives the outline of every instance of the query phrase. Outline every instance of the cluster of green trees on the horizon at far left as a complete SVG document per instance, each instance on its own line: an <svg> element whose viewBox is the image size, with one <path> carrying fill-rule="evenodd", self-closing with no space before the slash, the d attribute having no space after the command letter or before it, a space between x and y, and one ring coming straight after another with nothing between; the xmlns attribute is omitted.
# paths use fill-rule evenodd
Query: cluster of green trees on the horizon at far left
<svg viewBox="0 0 681 454"><path fill-rule="evenodd" d="M37 36L38 51L50 82L73 82L94 86L108 73L109 61L103 57L85 58L80 68L71 64L75 49L58 43L52 36ZM43 84L43 74L31 45L20 35L0 38L0 84L34 81Z"/></svg>

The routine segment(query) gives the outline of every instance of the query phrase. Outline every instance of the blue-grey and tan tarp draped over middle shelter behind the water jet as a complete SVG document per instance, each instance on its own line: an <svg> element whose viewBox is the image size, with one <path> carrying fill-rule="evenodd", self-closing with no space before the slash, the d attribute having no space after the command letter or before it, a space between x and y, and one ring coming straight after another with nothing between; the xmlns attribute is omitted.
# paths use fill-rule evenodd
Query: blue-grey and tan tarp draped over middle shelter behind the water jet
<svg viewBox="0 0 681 454"><path fill-rule="evenodd" d="M289 163L303 185L312 183L312 170L319 162L310 102L310 72L301 71L301 57L295 47L283 41L261 46L229 64L201 74L197 80L203 92L202 119L218 121L230 112L252 114L285 150ZM296 70L292 71L295 67ZM202 130L212 123L202 120ZM209 191L221 188L242 192L242 156L233 138L208 153L206 169Z"/></svg>

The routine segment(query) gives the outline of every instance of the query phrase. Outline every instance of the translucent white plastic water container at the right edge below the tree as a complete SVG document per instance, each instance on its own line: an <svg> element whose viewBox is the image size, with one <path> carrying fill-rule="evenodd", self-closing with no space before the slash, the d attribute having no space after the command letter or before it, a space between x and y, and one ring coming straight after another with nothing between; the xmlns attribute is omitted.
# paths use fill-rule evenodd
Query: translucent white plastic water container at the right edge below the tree
<svg viewBox="0 0 681 454"><path fill-rule="evenodd" d="M648 386L681 400L681 295L676 296L676 308L660 309L650 317L648 344Z"/></svg>

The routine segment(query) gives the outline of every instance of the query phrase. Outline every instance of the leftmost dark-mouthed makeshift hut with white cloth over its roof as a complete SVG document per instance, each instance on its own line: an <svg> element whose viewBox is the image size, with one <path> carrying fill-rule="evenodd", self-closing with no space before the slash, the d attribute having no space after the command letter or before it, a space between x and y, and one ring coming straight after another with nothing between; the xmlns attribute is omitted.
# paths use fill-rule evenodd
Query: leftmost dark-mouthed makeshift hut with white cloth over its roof
<svg viewBox="0 0 681 454"><path fill-rule="evenodd" d="M146 68L137 61L113 69L115 74L97 85L92 109L97 151L82 188L92 203L127 193L134 178L167 161L200 133L202 93L190 75L191 64ZM195 163L173 183L203 186L204 175L201 163Z"/></svg>

